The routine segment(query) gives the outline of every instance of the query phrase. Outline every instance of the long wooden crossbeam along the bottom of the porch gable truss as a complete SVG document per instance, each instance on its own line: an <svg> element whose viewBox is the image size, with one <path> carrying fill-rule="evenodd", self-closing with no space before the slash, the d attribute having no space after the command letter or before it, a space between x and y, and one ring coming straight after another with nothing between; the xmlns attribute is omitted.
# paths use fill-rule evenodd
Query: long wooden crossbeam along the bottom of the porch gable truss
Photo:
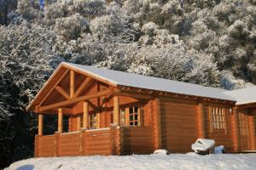
<svg viewBox="0 0 256 170"><path fill-rule="evenodd" d="M47 111L47 110L62 107L62 106L65 106L65 105L73 105L75 103L78 103L79 101L93 99L93 98L101 97L101 96L108 95L108 94L109 94L109 89L104 90L104 91L99 92L99 93L96 93L96 94L88 94L88 95L80 96L80 97L75 98L75 99L68 99L66 101L61 101L59 103L55 103L55 104L52 104L52 105L41 106L41 107L39 107L39 111Z"/></svg>

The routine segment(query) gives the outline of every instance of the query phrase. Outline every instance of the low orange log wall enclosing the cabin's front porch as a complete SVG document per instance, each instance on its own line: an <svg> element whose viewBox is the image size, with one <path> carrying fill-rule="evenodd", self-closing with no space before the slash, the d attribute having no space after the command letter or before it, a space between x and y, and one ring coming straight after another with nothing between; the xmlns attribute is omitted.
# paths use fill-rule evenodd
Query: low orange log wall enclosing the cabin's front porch
<svg viewBox="0 0 256 170"><path fill-rule="evenodd" d="M106 127L35 137L35 156L93 156L151 154L150 127Z"/></svg>

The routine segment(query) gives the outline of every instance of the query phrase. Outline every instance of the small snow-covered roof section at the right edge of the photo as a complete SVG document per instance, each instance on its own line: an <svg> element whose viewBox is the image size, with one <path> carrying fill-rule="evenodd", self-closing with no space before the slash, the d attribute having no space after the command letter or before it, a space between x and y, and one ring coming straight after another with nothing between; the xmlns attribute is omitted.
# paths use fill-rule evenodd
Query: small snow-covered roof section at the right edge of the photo
<svg viewBox="0 0 256 170"><path fill-rule="evenodd" d="M236 105L256 103L256 86L224 92L236 99Z"/></svg>

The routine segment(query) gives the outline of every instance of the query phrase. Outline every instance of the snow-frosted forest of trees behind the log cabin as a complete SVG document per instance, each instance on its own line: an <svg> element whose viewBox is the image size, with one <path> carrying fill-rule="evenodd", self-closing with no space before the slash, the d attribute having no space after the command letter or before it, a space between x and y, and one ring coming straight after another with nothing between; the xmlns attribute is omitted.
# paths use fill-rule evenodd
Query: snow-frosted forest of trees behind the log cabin
<svg viewBox="0 0 256 170"><path fill-rule="evenodd" d="M256 0L0 0L0 169L33 156L26 106L62 61L250 87Z"/></svg>

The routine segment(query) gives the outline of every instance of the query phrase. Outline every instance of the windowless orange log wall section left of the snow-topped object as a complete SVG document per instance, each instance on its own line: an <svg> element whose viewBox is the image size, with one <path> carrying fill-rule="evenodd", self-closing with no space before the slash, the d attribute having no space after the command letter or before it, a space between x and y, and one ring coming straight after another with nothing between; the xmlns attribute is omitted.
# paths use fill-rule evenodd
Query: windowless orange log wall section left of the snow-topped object
<svg viewBox="0 0 256 170"><path fill-rule="evenodd" d="M161 145L174 153L191 151L198 138L197 105L160 101Z"/></svg>

